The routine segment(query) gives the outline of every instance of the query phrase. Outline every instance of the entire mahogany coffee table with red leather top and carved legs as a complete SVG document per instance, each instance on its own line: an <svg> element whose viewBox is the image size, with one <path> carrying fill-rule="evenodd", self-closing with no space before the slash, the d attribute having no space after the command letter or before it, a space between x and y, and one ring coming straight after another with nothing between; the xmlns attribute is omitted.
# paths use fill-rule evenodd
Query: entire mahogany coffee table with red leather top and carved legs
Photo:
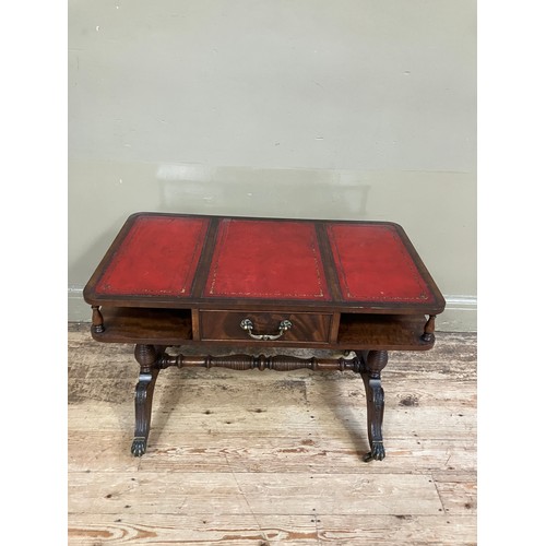
<svg viewBox="0 0 546 546"><path fill-rule="evenodd" d="M388 352L430 349L435 317L446 305L397 224L163 213L127 219L84 298L96 341L135 345L131 452L139 456L159 370L221 366L360 373L370 443L365 460L382 460ZM344 356L207 355L218 345ZM174 346L176 356L166 352ZM205 356L185 356L189 346Z"/></svg>

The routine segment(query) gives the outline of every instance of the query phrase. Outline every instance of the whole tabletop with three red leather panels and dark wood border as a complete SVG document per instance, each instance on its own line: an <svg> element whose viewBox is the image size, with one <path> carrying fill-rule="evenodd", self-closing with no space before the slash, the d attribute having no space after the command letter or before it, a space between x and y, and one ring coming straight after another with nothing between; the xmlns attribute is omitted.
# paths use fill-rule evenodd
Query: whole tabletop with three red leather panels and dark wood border
<svg viewBox="0 0 546 546"><path fill-rule="evenodd" d="M92 305L292 302L441 312L443 298L392 223L139 213L85 287Z"/></svg>

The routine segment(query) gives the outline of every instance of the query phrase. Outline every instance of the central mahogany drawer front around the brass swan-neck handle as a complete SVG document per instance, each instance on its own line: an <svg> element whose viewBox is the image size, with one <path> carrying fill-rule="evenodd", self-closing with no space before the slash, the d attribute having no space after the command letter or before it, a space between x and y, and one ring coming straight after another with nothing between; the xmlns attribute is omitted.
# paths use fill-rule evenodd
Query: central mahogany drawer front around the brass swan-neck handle
<svg viewBox="0 0 546 546"><path fill-rule="evenodd" d="M241 322L249 319L252 322L251 333L254 335L278 335L280 324L289 320L292 328L277 340L253 340L248 331L241 328ZM258 343L327 343L330 336L332 316L324 313L290 313L290 312L254 312L254 311L201 311L201 339L211 341L248 341Z"/></svg>

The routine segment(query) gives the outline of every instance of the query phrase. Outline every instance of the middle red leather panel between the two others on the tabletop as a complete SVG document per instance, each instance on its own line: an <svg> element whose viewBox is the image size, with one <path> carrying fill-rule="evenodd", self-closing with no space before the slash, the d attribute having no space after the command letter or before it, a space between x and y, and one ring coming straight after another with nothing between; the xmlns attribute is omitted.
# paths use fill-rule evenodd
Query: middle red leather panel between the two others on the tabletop
<svg viewBox="0 0 546 546"><path fill-rule="evenodd" d="M204 296L330 300L313 224L223 219Z"/></svg>

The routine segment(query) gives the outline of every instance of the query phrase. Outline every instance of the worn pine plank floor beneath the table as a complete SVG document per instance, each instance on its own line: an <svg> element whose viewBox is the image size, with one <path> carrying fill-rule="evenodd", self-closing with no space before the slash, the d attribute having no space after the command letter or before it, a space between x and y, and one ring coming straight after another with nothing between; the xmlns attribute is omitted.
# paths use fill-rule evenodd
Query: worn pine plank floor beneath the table
<svg viewBox="0 0 546 546"><path fill-rule="evenodd" d="M371 463L360 377L308 370L162 371L133 458L133 347L68 337L69 545L476 544L475 334L390 354Z"/></svg>

